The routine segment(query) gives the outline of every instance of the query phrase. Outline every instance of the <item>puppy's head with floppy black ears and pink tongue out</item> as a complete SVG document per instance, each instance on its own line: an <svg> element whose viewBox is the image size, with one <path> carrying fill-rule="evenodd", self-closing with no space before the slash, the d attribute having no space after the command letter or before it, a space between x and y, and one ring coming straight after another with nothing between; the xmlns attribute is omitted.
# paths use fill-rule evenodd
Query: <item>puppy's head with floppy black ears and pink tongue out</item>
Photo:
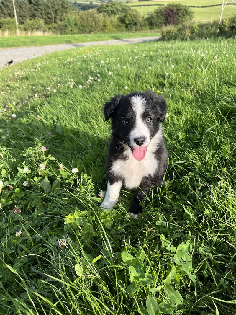
<svg viewBox="0 0 236 315"><path fill-rule="evenodd" d="M104 116L105 121L112 119L113 135L131 149L136 160L142 160L165 120L166 102L150 91L117 94L105 103Z"/></svg>

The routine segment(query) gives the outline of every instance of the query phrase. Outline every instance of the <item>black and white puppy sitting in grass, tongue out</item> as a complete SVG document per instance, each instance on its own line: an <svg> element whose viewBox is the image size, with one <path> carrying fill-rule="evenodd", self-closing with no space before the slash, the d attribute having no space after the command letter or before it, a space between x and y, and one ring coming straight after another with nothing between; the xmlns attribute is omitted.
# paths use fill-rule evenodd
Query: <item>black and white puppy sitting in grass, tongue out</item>
<svg viewBox="0 0 236 315"><path fill-rule="evenodd" d="M119 198L122 183L137 189L130 214L142 212L140 201L150 187L161 185L168 164L168 153L161 122L166 117L166 102L146 91L117 94L104 105L105 121L112 119L112 138L107 155L107 193L101 207L112 208Z"/></svg>

